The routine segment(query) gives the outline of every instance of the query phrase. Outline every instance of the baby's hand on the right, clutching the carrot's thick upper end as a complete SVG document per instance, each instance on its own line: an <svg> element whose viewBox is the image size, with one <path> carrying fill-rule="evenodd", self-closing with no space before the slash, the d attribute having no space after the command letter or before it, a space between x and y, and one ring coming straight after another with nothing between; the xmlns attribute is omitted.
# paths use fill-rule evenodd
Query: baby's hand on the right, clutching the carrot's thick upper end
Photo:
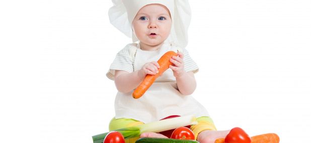
<svg viewBox="0 0 321 143"><path fill-rule="evenodd" d="M173 70L174 72L174 76L176 78L180 77L181 75L183 75L185 73L184 70L184 54L182 52L178 52L177 53L178 56L173 56L170 59L170 62L172 62L174 64L174 66L170 65L170 68Z"/></svg>

